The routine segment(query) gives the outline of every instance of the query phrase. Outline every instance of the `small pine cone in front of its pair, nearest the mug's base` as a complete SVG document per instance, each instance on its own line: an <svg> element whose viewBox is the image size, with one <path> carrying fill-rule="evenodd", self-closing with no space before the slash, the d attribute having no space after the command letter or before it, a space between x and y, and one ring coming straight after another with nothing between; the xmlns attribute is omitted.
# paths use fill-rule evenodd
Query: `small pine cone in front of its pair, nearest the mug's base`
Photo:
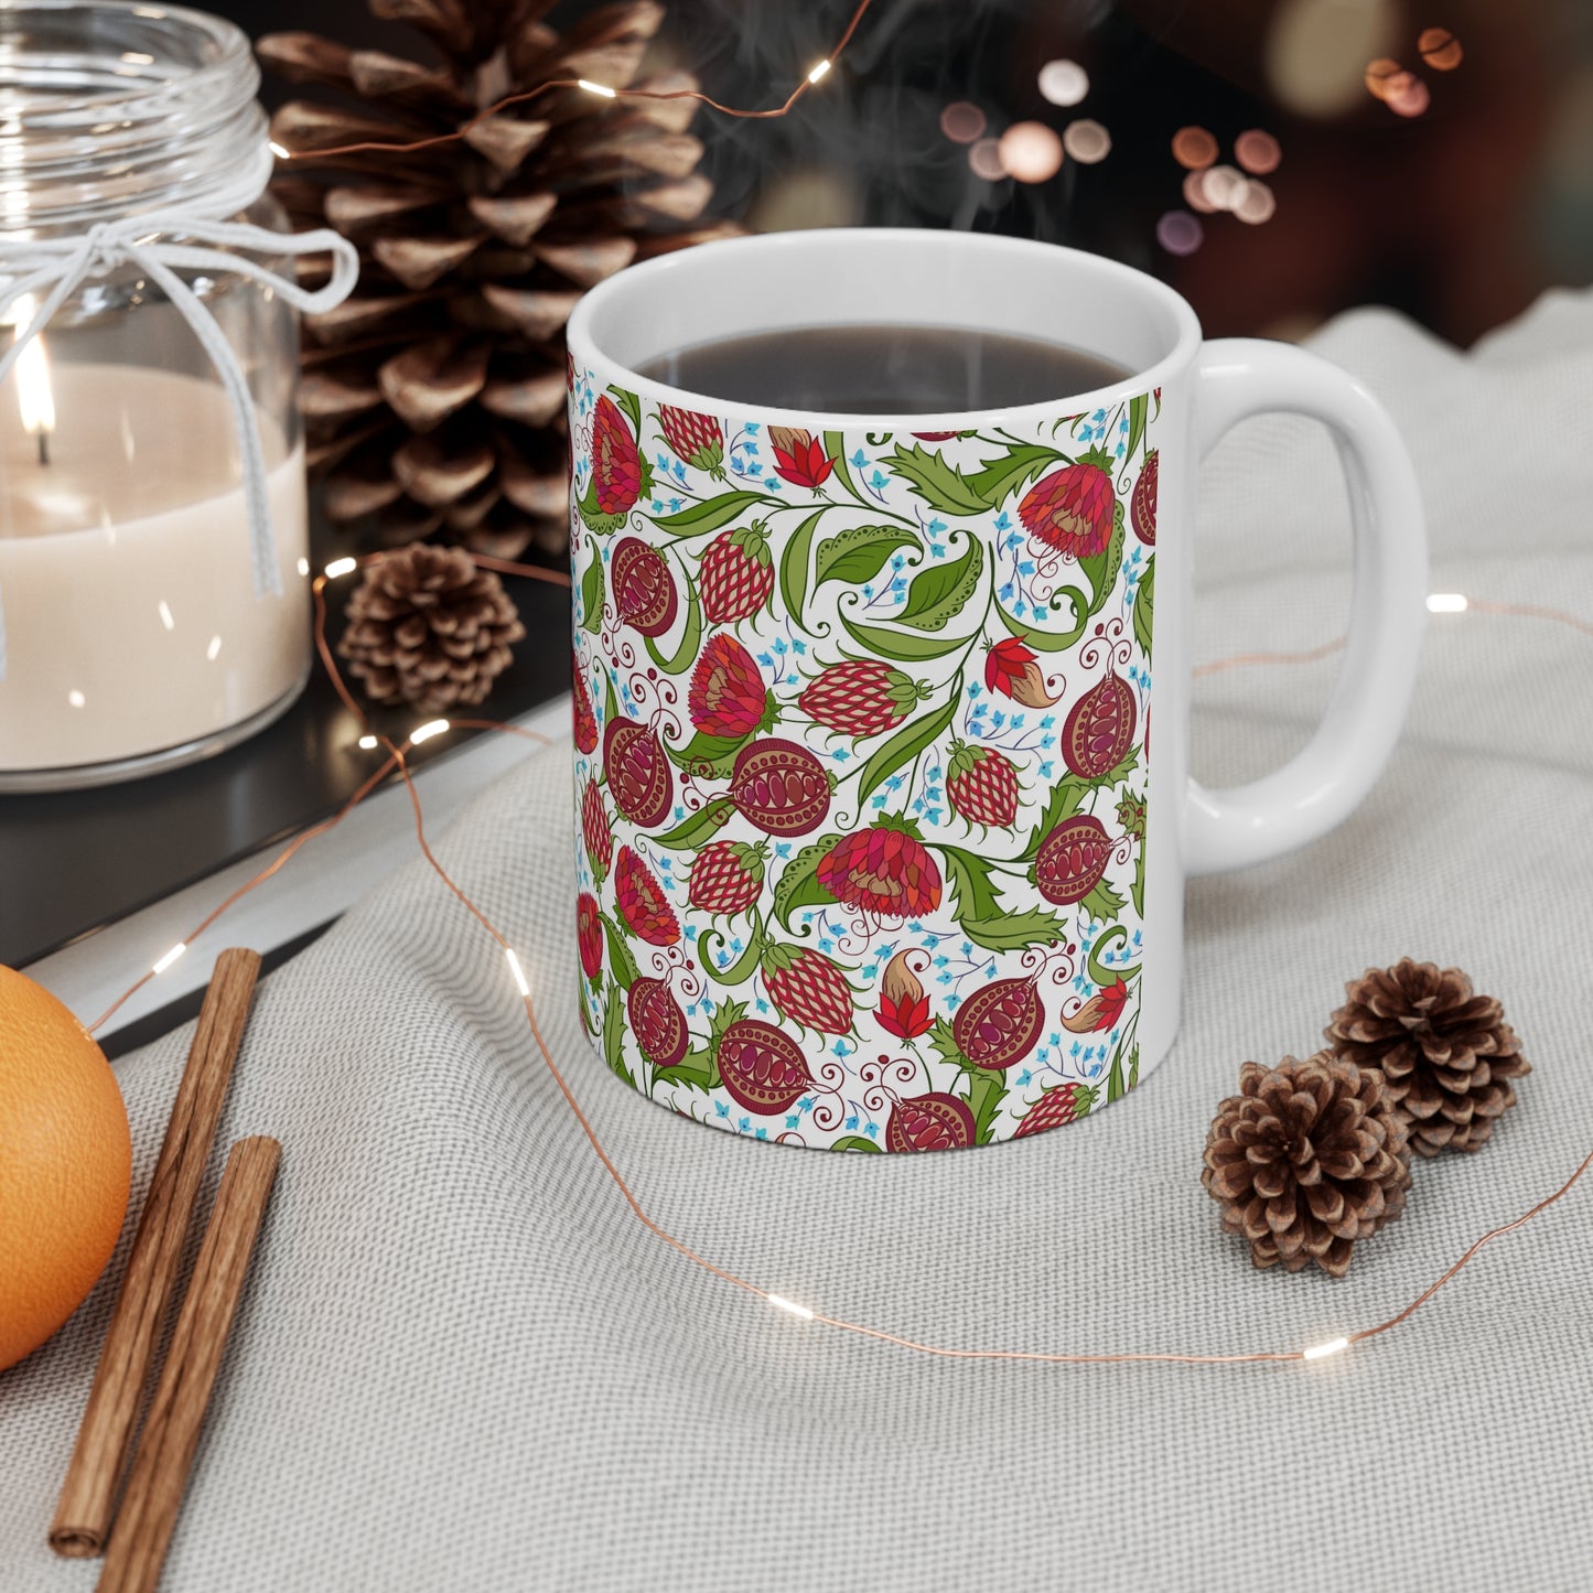
<svg viewBox="0 0 1593 1593"><path fill-rule="evenodd" d="M1316 1262L1343 1278L1354 1243L1405 1209L1405 1125L1376 1069L1327 1051L1271 1069L1246 1063L1239 1093L1212 1120L1201 1184L1258 1268Z"/></svg>

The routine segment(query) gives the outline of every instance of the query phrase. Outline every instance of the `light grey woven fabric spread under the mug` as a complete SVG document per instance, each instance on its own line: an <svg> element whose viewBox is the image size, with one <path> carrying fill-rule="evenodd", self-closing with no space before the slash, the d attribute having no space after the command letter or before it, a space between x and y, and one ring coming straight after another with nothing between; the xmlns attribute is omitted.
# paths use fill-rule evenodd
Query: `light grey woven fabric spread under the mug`
<svg viewBox="0 0 1593 1593"><path fill-rule="evenodd" d="M1319 347L1418 456L1437 589L1593 616L1593 298L1553 296L1469 357L1380 312ZM1344 515L1321 436L1252 424L1206 487L1198 656L1333 636ZM1332 667L1203 682L1198 773L1279 761ZM1192 889L1168 1061L1082 1125L967 1155L749 1144L609 1075L572 997L562 750L440 852L523 948L637 1195L706 1255L946 1344L1298 1348L1408 1301L1593 1142L1590 677L1568 629L1437 616L1365 808ZM1255 1273L1198 1184L1212 1109L1244 1058L1313 1050L1343 981L1405 953L1505 1002L1536 1066L1521 1106L1481 1155L1418 1166L1343 1282ZM186 1039L119 1066L135 1203ZM225 1121L247 1133L282 1137L282 1176L167 1588L1593 1585L1593 1187L1317 1365L927 1360L771 1311L645 1233L502 956L419 863L263 988ZM45 1529L108 1281L0 1376L6 1593L97 1574Z"/></svg>

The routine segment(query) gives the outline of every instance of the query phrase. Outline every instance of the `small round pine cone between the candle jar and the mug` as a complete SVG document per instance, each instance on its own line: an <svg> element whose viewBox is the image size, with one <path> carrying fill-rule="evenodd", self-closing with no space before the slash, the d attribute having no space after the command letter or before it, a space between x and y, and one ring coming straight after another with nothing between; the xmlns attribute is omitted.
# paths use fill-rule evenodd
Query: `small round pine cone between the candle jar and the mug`
<svg viewBox="0 0 1593 1593"><path fill-rule="evenodd" d="M440 714L486 698L521 640L515 601L462 548L416 543L366 566L338 644L373 703Z"/></svg>

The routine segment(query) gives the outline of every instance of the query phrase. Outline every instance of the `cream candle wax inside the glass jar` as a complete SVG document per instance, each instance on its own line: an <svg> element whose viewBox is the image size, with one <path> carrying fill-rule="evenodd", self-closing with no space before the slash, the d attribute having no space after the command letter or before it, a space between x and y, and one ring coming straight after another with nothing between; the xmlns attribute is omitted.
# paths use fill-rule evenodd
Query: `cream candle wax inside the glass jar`
<svg viewBox="0 0 1593 1593"><path fill-rule="evenodd" d="M280 597L256 597L226 395L53 363L49 462L0 389L0 777L180 747L287 701L309 663L304 451L263 421Z"/></svg>

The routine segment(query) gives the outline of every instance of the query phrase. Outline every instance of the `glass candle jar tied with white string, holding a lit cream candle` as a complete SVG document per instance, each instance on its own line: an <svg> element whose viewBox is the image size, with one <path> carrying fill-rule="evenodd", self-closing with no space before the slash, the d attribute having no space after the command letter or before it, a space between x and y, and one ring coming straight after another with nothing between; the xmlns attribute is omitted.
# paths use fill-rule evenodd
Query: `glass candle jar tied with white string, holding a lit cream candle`
<svg viewBox="0 0 1593 1593"><path fill-rule="evenodd" d="M304 296L280 256L241 258L261 241L237 226L285 226L258 83L242 32L198 11L0 6L0 293L30 280L27 245L57 277L83 249L38 335L48 280L0 328L0 355L21 344L0 386L0 790L205 757L309 675Z"/></svg>

